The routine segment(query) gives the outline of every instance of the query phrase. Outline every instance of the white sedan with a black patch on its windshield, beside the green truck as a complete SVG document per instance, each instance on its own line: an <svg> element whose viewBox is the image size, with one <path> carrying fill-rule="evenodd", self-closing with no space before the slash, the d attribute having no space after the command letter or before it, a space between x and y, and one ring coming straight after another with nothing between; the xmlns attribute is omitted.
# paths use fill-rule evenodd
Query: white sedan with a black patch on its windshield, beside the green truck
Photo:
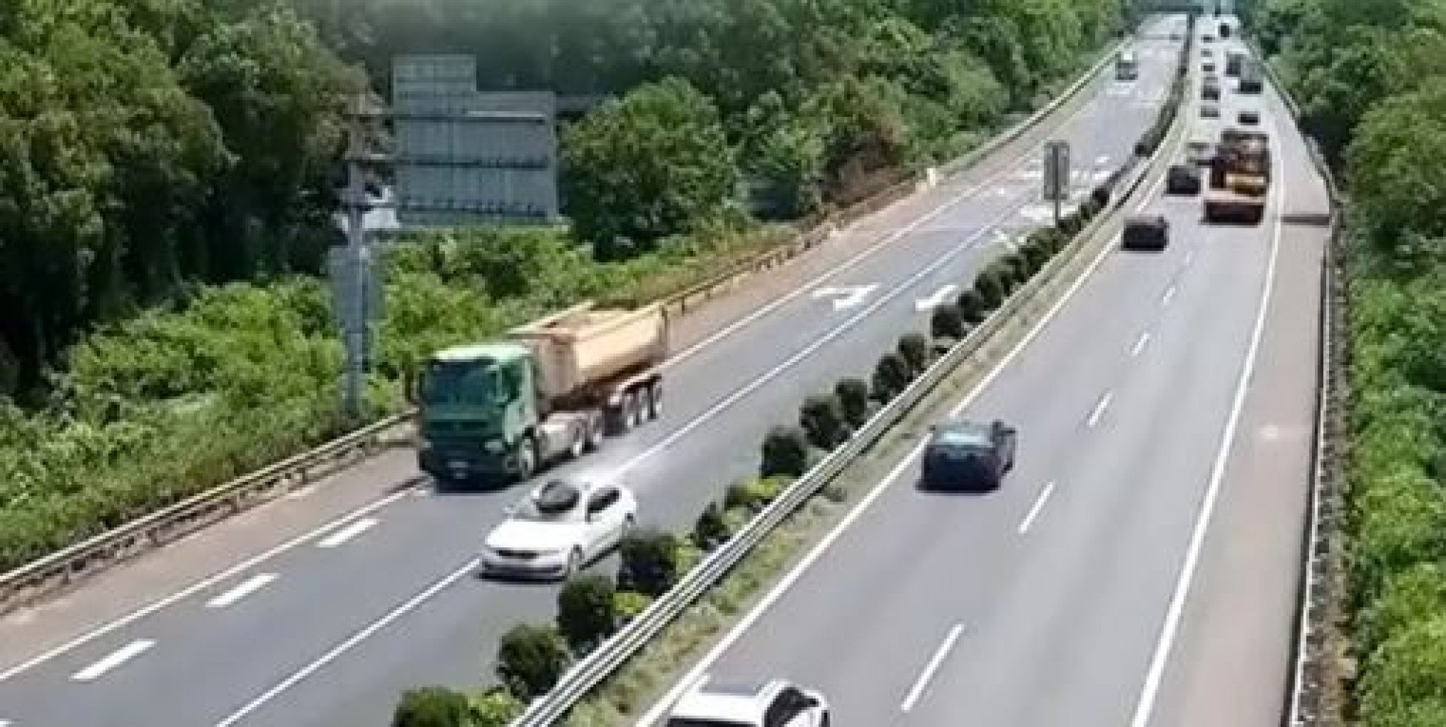
<svg viewBox="0 0 1446 727"><path fill-rule="evenodd" d="M616 548L636 517L638 497L625 487L552 480L487 535L483 574L567 578Z"/></svg>

